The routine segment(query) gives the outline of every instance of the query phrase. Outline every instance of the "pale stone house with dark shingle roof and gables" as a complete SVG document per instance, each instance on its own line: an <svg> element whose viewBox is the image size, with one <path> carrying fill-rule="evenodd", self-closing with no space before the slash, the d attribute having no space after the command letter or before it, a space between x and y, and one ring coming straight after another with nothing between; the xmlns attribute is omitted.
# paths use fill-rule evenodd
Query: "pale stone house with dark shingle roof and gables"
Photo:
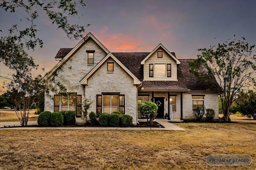
<svg viewBox="0 0 256 170"><path fill-rule="evenodd" d="M191 119L193 108L205 106L218 119L217 89L191 74L189 60L178 59L161 43L149 53L111 53L88 33L74 48L61 48L55 59L60 62L43 78L45 110L73 110L79 120L83 99L91 97L89 112L120 111L134 124L143 101L157 104L157 118L172 113L172 119Z"/></svg>

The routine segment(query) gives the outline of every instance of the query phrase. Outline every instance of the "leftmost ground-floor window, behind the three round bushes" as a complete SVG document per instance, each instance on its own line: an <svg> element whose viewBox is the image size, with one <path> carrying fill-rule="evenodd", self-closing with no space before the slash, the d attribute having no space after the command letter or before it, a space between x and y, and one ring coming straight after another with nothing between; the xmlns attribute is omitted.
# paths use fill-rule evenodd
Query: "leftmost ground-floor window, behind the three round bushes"
<svg viewBox="0 0 256 170"><path fill-rule="evenodd" d="M54 111L74 111L76 117L82 116L82 95L61 94L54 95Z"/></svg>

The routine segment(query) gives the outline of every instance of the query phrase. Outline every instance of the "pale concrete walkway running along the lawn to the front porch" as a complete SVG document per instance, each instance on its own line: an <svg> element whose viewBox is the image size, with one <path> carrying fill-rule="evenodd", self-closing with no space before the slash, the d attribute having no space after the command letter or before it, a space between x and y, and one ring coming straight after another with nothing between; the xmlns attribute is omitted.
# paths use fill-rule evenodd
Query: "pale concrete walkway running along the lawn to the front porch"
<svg viewBox="0 0 256 170"><path fill-rule="evenodd" d="M13 129L82 129L82 130L160 130L160 131L185 131L172 123L167 122L166 120L158 119L158 123L164 126L164 128L158 127L21 127L20 122L1 122L0 130L13 130ZM4 125L10 125L11 127L2 128ZM37 125L37 121L28 121L28 125ZM15 127L13 127L15 126ZM18 126L18 127L17 127Z"/></svg>

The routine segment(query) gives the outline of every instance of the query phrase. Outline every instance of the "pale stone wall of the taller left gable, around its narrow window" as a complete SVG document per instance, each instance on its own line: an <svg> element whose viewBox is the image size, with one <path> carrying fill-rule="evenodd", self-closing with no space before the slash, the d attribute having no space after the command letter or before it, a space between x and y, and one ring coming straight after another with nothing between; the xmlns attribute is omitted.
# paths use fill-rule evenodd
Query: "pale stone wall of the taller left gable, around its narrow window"
<svg viewBox="0 0 256 170"><path fill-rule="evenodd" d="M94 53L94 64L87 64L87 53L86 50L95 50ZM64 63L60 69L58 69L54 81L48 80L48 86L56 87L57 92L50 91L49 94L45 94L44 110L54 111L54 94L60 92L58 82L64 85L67 92L76 92L82 94L82 100L84 98L84 87L80 84L80 80L90 71L96 64L98 64L104 57L106 52L95 43L92 39L88 39L84 45L76 51L76 53L70 57L69 60ZM51 77L52 78L52 77ZM50 78L50 79L51 79ZM50 88L51 89L51 88Z"/></svg>

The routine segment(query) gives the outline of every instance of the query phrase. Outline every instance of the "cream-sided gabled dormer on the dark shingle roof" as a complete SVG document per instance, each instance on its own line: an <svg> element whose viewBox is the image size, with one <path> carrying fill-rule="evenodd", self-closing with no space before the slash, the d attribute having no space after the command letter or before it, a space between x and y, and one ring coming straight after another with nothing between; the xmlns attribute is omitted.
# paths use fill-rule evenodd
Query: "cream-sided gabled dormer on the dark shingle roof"
<svg viewBox="0 0 256 170"><path fill-rule="evenodd" d="M144 65L145 81L177 81L180 61L161 43L140 64Z"/></svg>

